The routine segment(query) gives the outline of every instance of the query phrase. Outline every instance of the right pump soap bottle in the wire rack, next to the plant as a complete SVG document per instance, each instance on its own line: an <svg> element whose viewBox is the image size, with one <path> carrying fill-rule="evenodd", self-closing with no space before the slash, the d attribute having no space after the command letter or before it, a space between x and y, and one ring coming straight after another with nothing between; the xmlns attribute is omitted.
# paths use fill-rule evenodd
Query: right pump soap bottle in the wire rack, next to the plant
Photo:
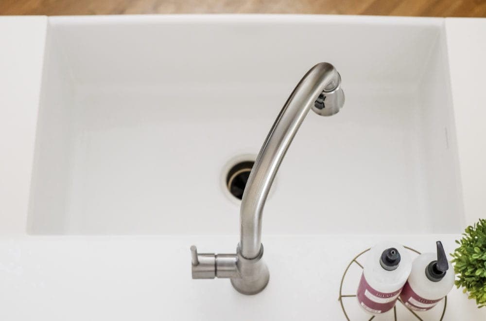
<svg viewBox="0 0 486 321"><path fill-rule="evenodd" d="M454 285L454 272L447 272L451 264L442 243L436 244L437 253L423 253L414 260L412 273L400 294L401 301L411 310L433 308Z"/></svg>

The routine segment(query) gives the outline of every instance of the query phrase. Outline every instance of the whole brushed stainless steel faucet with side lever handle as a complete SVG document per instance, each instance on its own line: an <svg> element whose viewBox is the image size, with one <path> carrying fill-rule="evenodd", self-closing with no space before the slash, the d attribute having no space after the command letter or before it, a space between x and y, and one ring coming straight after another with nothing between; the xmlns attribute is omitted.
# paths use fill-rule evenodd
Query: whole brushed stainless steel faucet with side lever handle
<svg viewBox="0 0 486 321"><path fill-rule="evenodd" d="M265 288L270 274L262 259L261 219L278 167L309 109L331 116L343 105L341 76L331 64L319 63L304 75L278 114L246 183L236 254L199 254L191 246L193 279L229 278L243 294L257 294Z"/></svg>

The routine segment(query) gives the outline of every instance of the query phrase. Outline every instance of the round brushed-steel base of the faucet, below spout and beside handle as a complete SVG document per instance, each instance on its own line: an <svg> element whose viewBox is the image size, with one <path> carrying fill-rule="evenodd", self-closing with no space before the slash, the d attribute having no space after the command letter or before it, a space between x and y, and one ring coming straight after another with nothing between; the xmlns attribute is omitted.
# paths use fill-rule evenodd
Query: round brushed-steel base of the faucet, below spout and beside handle
<svg viewBox="0 0 486 321"><path fill-rule="evenodd" d="M240 293L253 295L260 293L268 284L270 272L262 259L263 245L260 253L253 259L247 259L241 254L240 246L236 249L236 265L240 272L239 278L231 278L231 285Z"/></svg>

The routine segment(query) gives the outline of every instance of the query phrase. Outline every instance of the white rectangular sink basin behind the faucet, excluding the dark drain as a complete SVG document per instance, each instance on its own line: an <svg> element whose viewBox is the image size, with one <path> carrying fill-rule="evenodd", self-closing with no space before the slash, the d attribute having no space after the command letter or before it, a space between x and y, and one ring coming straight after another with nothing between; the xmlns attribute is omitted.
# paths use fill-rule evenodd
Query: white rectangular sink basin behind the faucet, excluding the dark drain
<svg viewBox="0 0 486 321"><path fill-rule="evenodd" d="M225 168L322 61L345 107L308 115L263 233L462 230L442 19L117 19L50 19L29 233L237 234Z"/></svg>

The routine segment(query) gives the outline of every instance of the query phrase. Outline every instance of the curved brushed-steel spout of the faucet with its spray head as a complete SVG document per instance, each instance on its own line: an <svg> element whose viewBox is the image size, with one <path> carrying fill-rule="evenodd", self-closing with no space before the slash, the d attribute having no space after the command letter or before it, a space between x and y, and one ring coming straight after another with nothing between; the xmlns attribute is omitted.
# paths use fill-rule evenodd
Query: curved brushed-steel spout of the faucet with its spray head
<svg viewBox="0 0 486 321"><path fill-rule="evenodd" d="M265 201L278 167L297 130L312 108L330 116L344 104L341 77L329 63L319 63L309 70L288 98L263 143L248 178L240 209L241 255L253 259L261 251L261 219Z"/></svg>

